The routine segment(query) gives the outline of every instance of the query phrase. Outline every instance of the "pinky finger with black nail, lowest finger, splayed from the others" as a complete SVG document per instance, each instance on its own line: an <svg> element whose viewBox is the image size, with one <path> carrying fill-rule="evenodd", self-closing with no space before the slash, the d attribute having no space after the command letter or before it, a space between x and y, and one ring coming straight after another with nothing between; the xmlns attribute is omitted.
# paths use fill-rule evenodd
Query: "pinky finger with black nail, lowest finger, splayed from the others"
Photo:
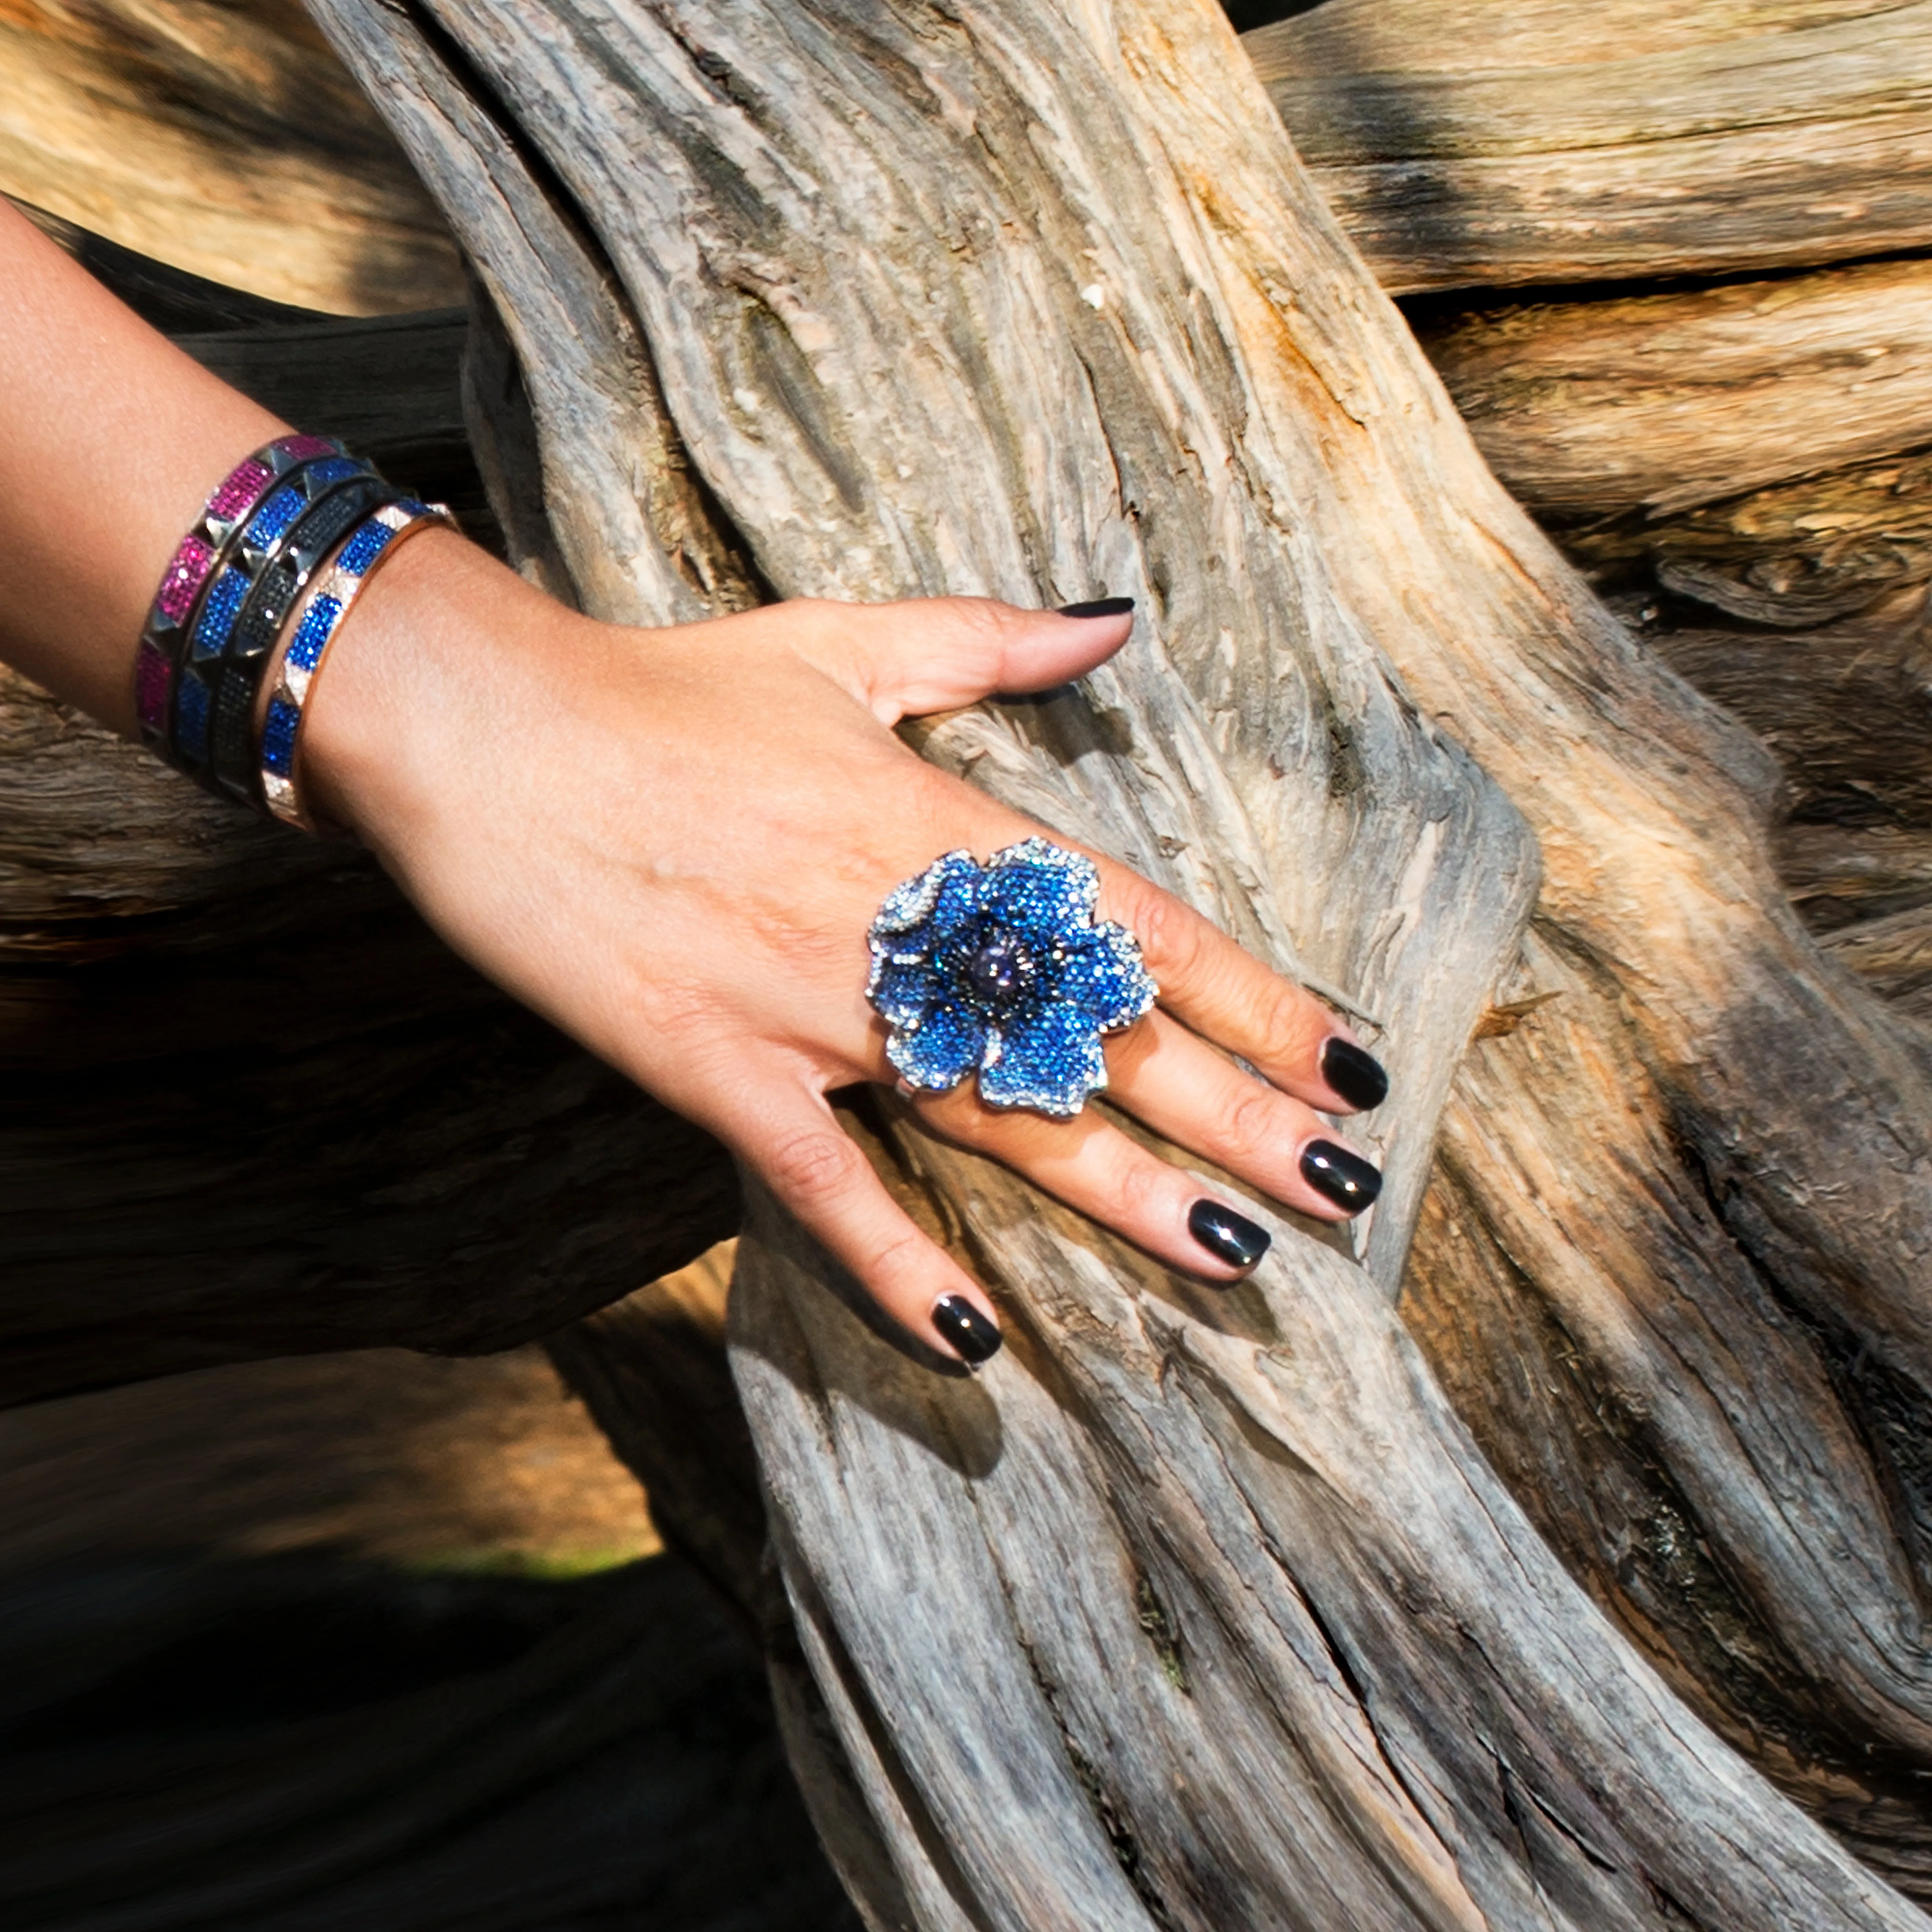
<svg viewBox="0 0 1932 1932"><path fill-rule="evenodd" d="M887 1194L823 1095L765 1088L750 1095L746 1117L728 1122L726 1136L900 1327L970 1368L999 1350L999 1318L985 1291Z"/></svg>

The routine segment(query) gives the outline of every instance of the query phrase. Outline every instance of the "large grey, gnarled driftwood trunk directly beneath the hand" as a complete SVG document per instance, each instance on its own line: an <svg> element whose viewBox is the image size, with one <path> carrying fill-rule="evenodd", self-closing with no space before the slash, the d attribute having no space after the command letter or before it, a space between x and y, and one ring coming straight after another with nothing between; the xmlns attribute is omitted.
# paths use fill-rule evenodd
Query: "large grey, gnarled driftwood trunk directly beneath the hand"
<svg viewBox="0 0 1932 1932"><path fill-rule="evenodd" d="M1861 1405L1882 1374L1918 1414L1932 1368L1922 1039L1785 912L1762 753L1495 489L1225 25L319 14L502 307L510 440L587 607L703 607L672 556L734 533L782 591L1148 593L1084 696L929 753L1385 1024L1387 1211L1343 1244L1277 1221L1225 1298L881 1121L1005 1296L978 1381L906 1364L753 1215L734 1354L825 1712L794 1748L844 1760L821 1826L875 1922L1922 1924L1588 1600L1911 1876L1913 1468ZM684 495L653 543L680 460L721 522ZM622 570L597 529L636 533ZM1528 854L1437 723L1542 838L1501 989ZM1389 1304L1486 1007L1408 1306L1586 1590ZM1520 1306L1567 1397L1484 1387ZM1605 1387L1629 1457L1565 1461ZM1665 1503L1712 1551L1694 1588L1633 1557ZM1764 1627L1735 1667L1714 1642Z"/></svg>

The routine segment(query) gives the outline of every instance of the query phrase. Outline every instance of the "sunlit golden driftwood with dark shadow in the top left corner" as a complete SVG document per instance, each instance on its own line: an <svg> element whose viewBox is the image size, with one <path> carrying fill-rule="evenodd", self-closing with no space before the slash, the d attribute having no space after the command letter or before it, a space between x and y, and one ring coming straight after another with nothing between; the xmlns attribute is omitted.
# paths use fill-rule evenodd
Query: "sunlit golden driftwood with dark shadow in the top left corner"
<svg viewBox="0 0 1932 1932"><path fill-rule="evenodd" d="M0 191L311 309L462 299L435 207L299 0L6 8Z"/></svg>

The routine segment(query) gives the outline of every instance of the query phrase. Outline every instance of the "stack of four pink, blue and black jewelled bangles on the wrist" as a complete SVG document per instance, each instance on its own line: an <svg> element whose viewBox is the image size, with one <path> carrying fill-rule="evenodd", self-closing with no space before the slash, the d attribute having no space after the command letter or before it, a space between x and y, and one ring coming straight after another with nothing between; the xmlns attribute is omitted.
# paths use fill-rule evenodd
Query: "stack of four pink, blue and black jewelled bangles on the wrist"
<svg viewBox="0 0 1932 1932"><path fill-rule="evenodd" d="M143 742L220 796L307 823L294 794L294 732L307 678L375 560L425 520L448 522L448 512L410 500L328 437L278 437L238 464L176 549L141 630L135 713ZM298 628L298 639L307 639L301 653L290 647L290 657L307 659L296 668L294 696L284 661L263 713L263 672L330 554L328 595L309 603ZM332 614L319 618L319 611ZM259 732L269 717L286 734L280 769Z"/></svg>

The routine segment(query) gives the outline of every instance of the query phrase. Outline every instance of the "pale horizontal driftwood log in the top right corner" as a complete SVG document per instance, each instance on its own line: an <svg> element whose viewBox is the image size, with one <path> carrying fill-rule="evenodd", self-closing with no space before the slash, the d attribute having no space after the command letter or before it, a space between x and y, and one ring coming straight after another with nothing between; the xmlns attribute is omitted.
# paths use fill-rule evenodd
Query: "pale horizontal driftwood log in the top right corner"
<svg viewBox="0 0 1932 1932"><path fill-rule="evenodd" d="M1932 240L1924 4L1327 0L1244 44L1395 294Z"/></svg>

